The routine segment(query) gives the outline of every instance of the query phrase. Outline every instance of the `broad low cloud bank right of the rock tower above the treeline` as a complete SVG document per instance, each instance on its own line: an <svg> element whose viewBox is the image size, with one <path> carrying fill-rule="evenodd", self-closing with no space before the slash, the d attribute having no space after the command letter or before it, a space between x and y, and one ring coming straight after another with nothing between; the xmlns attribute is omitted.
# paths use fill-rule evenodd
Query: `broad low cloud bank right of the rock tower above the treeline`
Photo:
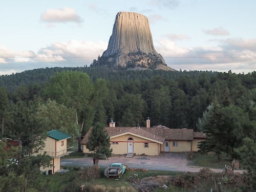
<svg viewBox="0 0 256 192"><path fill-rule="evenodd" d="M256 69L255 39L219 40L217 47L178 47L172 40L159 40L156 47L166 64L176 70L245 73ZM182 67L181 67L182 66Z"/></svg>

